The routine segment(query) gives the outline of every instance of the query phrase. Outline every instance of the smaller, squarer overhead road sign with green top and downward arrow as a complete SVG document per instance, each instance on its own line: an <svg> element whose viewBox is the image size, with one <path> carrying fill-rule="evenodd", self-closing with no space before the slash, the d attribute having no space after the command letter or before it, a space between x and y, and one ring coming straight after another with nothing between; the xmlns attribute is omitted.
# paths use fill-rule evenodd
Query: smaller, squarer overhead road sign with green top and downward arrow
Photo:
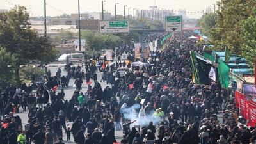
<svg viewBox="0 0 256 144"><path fill-rule="evenodd" d="M182 16L167 16L165 29L166 31L182 31Z"/></svg>

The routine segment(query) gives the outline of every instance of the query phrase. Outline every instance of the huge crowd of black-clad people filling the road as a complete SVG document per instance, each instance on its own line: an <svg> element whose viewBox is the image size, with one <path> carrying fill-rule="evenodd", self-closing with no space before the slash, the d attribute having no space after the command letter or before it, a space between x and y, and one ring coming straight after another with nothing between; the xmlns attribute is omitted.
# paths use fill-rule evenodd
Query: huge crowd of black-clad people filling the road
<svg viewBox="0 0 256 144"><path fill-rule="evenodd" d="M218 81L193 83L189 51L202 49L188 40L191 35L175 33L164 51L147 60L148 67L130 68L124 77L116 72L118 63L99 67L108 76L106 88L99 83L96 63L87 63L85 72L80 66L68 68L63 81L76 79L70 100L65 89L54 90L61 83L57 77L49 77L36 93L26 84L8 86L0 100L0 143L63 143L65 134L68 142L113 144L116 131L124 133L121 144L255 143L255 127L246 127L228 90ZM82 92L81 84L90 79L93 86ZM19 106L29 110L28 122L13 115Z"/></svg>

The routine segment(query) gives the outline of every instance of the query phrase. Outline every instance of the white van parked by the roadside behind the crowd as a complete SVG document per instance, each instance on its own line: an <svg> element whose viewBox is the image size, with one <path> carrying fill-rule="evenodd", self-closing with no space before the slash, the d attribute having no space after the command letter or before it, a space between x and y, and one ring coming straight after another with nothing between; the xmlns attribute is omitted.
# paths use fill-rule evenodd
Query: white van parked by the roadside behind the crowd
<svg viewBox="0 0 256 144"><path fill-rule="evenodd" d="M85 61L84 54L82 53L72 53L72 54L62 54L58 61Z"/></svg>

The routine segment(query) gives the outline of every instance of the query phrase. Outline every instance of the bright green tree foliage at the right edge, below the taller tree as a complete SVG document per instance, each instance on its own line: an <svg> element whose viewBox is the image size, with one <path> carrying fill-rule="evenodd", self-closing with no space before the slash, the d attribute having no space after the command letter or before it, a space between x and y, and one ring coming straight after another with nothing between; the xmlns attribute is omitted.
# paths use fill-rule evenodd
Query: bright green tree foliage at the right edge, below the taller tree
<svg viewBox="0 0 256 144"><path fill-rule="evenodd" d="M256 60L256 18L244 20L241 31L241 52L250 65Z"/></svg>

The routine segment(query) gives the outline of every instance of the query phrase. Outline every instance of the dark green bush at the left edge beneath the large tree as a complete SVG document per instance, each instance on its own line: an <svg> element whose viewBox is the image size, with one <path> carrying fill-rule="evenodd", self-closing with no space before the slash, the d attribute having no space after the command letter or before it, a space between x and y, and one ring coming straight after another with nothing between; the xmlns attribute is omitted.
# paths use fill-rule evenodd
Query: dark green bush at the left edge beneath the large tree
<svg viewBox="0 0 256 144"><path fill-rule="evenodd" d="M14 68L12 67L15 58L7 52L3 47L0 47L0 84L7 86L8 84L15 84Z"/></svg>

